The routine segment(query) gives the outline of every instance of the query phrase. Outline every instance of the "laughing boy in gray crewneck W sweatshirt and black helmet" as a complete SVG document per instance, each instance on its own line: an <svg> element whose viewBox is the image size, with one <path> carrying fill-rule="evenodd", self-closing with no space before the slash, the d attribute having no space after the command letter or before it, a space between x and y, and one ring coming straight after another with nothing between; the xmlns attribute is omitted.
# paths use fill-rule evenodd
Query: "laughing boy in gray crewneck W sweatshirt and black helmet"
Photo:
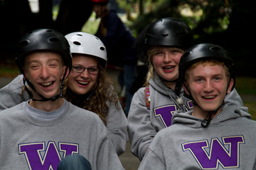
<svg viewBox="0 0 256 170"><path fill-rule="evenodd" d="M61 98L72 66L67 39L52 29L31 31L16 60L33 93L0 113L0 169L57 169L74 154L92 169L124 169L100 118Z"/></svg>

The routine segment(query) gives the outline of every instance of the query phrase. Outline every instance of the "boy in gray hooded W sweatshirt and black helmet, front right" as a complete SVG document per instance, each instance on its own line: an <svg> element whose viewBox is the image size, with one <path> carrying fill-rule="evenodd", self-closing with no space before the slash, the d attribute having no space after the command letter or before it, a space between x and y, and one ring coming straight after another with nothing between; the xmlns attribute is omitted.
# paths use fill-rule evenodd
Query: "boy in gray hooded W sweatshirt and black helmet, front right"
<svg viewBox="0 0 256 170"><path fill-rule="evenodd" d="M193 111L177 111L158 132L139 169L255 169L256 122L243 106L227 106L236 76L229 53L203 43L179 63L179 80Z"/></svg>

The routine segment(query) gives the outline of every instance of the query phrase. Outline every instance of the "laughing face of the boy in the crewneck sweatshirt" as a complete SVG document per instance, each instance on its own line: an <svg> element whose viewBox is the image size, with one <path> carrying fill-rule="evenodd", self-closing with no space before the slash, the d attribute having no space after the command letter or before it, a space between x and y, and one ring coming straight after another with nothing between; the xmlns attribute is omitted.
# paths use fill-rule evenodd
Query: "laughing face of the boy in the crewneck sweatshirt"
<svg viewBox="0 0 256 170"><path fill-rule="evenodd" d="M26 56L24 73L36 92L45 98L52 98L60 94L65 67L59 53L35 52ZM36 92L34 99L42 99Z"/></svg>

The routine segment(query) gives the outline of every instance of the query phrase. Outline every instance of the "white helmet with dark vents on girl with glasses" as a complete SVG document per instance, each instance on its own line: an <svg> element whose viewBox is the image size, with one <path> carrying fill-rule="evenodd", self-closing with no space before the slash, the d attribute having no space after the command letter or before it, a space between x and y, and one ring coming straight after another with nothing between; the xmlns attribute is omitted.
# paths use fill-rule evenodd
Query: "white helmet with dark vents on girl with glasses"
<svg viewBox="0 0 256 170"><path fill-rule="evenodd" d="M71 53L83 53L100 58L100 64L105 69L107 66L107 50L102 41L87 32L72 32L65 36L70 45Z"/></svg>

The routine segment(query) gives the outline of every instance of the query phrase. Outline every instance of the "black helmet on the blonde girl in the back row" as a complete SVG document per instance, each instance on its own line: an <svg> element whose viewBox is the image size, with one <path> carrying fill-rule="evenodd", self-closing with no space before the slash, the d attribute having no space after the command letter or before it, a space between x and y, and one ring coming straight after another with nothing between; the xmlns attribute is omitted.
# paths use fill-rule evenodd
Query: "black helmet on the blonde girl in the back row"
<svg viewBox="0 0 256 170"><path fill-rule="evenodd" d="M177 46L187 50L193 46L193 33L190 27L177 18L161 18L147 29L144 39L144 54L150 46Z"/></svg>

